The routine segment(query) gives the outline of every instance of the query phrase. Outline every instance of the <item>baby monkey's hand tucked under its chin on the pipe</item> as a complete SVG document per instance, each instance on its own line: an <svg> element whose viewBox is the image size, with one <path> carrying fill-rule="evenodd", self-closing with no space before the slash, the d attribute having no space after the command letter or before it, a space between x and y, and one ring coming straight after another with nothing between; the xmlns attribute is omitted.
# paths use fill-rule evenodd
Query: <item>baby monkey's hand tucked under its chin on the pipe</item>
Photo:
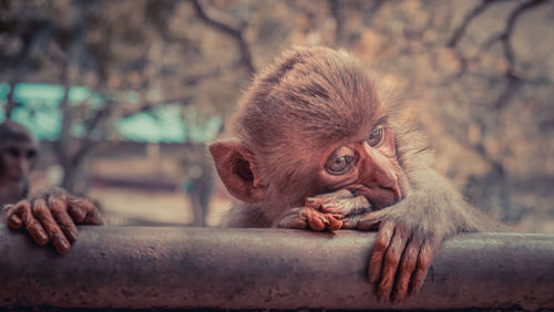
<svg viewBox="0 0 554 312"><path fill-rule="evenodd" d="M342 216L341 229L353 229L365 214L371 211L371 204L363 196L355 196L348 189L308 197L306 207L311 207L324 214Z"/></svg>

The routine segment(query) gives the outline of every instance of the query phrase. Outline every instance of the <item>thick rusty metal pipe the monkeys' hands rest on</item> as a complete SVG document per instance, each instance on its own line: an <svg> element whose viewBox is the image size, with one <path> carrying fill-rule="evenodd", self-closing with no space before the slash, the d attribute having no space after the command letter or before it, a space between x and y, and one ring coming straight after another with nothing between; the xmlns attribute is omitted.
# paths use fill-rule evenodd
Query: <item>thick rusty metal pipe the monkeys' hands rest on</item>
<svg viewBox="0 0 554 312"><path fill-rule="evenodd" d="M375 233L82 227L65 256L0 226L0 308L554 308L554 235L448 240L423 289L378 303Z"/></svg>

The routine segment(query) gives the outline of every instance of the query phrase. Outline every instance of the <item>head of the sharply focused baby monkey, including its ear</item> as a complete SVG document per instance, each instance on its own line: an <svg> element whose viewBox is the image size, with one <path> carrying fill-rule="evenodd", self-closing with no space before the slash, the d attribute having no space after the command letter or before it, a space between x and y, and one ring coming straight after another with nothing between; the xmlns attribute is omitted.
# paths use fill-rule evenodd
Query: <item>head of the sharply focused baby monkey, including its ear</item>
<svg viewBox="0 0 554 312"><path fill-rule="evenodd" d="M239 200L278 209L346 188L380 209L404 195L391 124L360 62L300 48L255 79L227 127L237 139L209 150Z"/></svg>

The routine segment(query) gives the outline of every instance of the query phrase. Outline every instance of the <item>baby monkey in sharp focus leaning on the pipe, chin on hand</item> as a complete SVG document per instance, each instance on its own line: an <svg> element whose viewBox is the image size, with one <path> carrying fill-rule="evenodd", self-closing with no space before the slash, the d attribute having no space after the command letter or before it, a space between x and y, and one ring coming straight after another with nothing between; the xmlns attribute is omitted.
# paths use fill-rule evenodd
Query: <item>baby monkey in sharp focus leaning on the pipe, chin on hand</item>
<svg viewBox="0 0 554 312"><path fill-rule="evenodd" d="M378 230L369 279L381 300L418 292L444 239L489 222L430 167L424 139L347 52L286 52L255 77L227 128L233 137L209 147L240 200L225 225Z"/></svg>

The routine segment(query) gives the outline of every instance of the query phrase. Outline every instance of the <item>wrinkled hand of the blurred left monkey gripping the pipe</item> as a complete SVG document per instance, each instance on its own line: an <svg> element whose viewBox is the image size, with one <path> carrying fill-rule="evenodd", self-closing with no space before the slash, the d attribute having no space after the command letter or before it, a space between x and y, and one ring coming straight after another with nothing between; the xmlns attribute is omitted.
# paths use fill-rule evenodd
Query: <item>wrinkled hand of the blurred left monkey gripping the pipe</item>
<svg viewBox="0 0 554 312"><path fill-rule="evenodd" d="M103 223L90 199L74 197L61 188L49 189L4 209L9 228L27 231L40 246L52 241L59 253L68 252L78 239L75 225Z"/></svg>

